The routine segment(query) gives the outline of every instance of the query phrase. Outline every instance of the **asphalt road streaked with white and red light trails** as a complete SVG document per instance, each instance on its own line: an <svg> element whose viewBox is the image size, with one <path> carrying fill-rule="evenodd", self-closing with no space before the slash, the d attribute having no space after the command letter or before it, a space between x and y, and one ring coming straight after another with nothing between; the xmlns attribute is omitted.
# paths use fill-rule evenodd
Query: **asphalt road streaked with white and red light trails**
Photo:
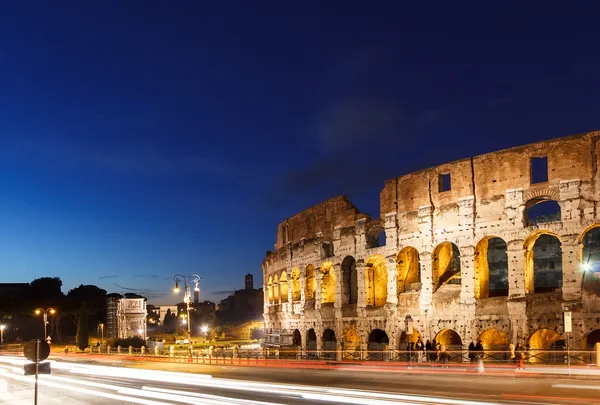
<svg viewBox="0 0 600 405"><path fill-rule="evenodd" d="M104 361L111 362L111 359ZM462 368L406 372L56 361L40 376L39 404L600 404L600 380ZM0 403L33 404L21 358L0 357ZM385 371L384 371L385 370Z"/></svg>

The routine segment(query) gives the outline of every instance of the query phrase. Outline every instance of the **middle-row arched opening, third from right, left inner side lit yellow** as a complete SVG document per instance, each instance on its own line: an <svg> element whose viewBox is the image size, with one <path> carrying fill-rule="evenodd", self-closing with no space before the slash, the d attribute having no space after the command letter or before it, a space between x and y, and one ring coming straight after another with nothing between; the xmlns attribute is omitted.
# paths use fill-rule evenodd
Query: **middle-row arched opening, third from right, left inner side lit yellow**
<svg viewBox="0 0 600 405"><path fill-rule="evenodd" d="M489 236L475 248L475 298L508 296L506 242Z"/></svg>

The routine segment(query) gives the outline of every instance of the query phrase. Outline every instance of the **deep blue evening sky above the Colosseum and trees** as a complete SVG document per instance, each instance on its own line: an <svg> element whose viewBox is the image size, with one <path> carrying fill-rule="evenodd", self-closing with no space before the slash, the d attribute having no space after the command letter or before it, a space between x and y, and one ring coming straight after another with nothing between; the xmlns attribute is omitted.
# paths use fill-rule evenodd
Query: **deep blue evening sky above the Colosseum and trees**
<svg viewBox="0 0 600 405"><path fill-rule="evenodd" d="M600 128L594 2L12 3L2 282L223 298L301 209L377 216L386 178Z"/></svg>

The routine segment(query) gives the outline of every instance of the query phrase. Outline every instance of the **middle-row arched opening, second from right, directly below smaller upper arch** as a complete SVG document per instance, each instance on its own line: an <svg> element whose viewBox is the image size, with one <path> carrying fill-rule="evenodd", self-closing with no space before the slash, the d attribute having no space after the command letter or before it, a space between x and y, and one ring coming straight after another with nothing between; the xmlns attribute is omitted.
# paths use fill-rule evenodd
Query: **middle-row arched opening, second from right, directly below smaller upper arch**
<svg viewBox="0 0 600 405"><path fill-rule="evenodd" d="M560 240L546 232L536 232L525 240L525 290L528 293L560 291L562 249Z"/></svg>

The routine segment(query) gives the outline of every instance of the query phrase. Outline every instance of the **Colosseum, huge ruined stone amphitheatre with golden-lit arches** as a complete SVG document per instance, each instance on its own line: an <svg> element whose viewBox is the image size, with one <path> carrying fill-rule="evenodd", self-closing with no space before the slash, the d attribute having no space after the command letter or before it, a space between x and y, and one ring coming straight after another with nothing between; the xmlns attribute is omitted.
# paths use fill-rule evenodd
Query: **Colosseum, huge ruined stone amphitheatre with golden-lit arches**
<svg viewBox="0 0 600 405"><path fill-rule="evenodd" d="M267 343L530 350L600 342L600 131L387 180L380 218L345 196L281 222L263 261ZM412 331L412 333L406 333ZM568 330L567 330L568 332ZM388 350L389 349L389 350Z"/></svg>

